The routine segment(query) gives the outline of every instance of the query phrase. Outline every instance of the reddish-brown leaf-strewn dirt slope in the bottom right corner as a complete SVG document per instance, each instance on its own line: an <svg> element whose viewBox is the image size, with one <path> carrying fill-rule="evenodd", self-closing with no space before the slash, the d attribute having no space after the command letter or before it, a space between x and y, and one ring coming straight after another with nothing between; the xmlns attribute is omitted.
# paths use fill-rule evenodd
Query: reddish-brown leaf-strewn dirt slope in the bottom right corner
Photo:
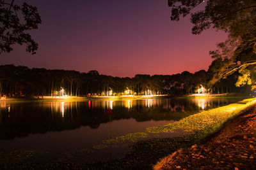
<svg viewBox="0 0 256 170"><path fill-rule="evenodd" d="M154 169L256 169L256 105L204 144L178 150Z"/></svg>

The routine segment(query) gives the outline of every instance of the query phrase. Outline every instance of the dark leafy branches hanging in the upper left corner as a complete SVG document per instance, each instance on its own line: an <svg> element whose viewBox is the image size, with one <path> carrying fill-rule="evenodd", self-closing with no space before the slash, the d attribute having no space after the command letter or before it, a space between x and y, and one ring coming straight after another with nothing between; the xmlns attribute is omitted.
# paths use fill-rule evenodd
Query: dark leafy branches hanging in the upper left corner
<svg viewBox="0 0 256 170"><path fill-rule="evenodd" d="M27 31L38 29L41 22L35 6L27 3L19 6L14 0L0 0L0 53L11 52L12 45L26 44L26 51L34 54L38 44Z"/></svg>

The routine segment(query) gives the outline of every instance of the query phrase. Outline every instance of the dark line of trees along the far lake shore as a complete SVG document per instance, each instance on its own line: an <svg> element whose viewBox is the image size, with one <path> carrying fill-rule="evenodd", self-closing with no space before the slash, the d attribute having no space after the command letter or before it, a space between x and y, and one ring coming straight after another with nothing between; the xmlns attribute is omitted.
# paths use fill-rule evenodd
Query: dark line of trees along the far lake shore
<svg viewBox="0 0 256 170"><path fill-rule="evenodd" d="M68 96L107 96L109 90L113 91L111 96L121 96L127 89L134 96L145 95L149 90L150 94L180 96L196 93L201 85L205 88L205 92L215 94L250 91L250 87L235 86L239 73L212 84L210 80L214 69L218 69L216 60L209 66L208 71L200 70L194 74L184 71L172 75L136 74L132 78L120 78L99 74L95 70L79 73L4 65L0 66L0 96L58 96L61 89L64 89Z"/></svg>

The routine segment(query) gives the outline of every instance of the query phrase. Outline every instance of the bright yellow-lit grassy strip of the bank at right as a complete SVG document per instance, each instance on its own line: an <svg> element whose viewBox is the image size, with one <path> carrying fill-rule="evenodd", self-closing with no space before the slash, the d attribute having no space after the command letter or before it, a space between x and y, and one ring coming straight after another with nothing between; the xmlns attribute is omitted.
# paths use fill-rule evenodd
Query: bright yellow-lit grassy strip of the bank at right
<svg viewBox="0 0 256 170"><path fill-rule="evenodd" d="M197 138L205 138L218 131L225 122L241 114L244 109L255 103L255 99L244 99L237 103L215 108L209 111L202 111L198 114L183 118L173 124L158 127L148 127L149 133L175 132L182 129L184 132L195 134Z"/></svg>

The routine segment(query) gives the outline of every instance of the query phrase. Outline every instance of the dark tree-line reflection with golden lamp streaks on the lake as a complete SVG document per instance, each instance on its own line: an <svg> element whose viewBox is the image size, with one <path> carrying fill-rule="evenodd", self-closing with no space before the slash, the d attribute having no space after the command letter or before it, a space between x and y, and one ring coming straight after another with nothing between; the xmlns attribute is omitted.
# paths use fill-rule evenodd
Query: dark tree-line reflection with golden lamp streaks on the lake
<svg viewBox="0 0 256 170"><path fill-rule="evenodd" d="M130 99L124 101L1 103L0 139L14 139L29 134L43 134L81 127L98 129L101 124L106 123L109 123L111 131L112 122L115 121L117 124L123 120L134 120L132 124L129 124L130 127L124 128L136 131L137 127L141 128L142 122L177 121L198 113L200 110L209 110L236 101L237 99Z"/></svg>

